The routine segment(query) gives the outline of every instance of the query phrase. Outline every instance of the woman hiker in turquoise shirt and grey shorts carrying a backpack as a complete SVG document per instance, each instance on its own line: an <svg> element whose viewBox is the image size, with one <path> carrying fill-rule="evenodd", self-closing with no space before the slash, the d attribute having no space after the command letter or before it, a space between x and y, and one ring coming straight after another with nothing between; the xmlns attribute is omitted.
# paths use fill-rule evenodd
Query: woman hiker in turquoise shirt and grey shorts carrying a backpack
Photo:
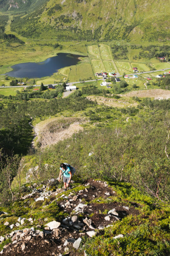
<svg viewBox="0 0 170 256"><path fill-rule="evenodd" d="M60 174L59 174L59 179L58 179L59 182L60 182L61 174L63 174L64 191L67 191L67 188L71 189L71 187L72 187L70 184L71 176L72 176L70 167L64 163L60 164Z"/></svg>

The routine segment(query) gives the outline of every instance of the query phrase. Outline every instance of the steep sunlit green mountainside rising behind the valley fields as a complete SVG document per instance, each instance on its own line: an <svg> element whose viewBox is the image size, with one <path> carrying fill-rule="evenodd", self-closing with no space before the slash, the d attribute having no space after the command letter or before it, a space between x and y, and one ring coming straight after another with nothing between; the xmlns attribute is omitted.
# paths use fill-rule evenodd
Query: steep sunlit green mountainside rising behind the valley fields
<svg viewBox="0 0 170 256"><path fill-rule="evenodd" d="M41 1L31 14L16 17L11 28L22 36L58 40L162 41L170 38L168 7L165 0Z"/></svg>

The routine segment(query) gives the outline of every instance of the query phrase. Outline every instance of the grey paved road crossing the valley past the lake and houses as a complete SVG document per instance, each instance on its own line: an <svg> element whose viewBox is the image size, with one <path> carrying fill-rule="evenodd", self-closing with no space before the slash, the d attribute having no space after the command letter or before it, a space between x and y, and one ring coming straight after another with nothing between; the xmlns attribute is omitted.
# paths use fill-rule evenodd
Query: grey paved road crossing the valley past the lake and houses
<svg viewBox="0 0 170 256"><path fill-rule="evenodd" d="M169 62L168 62L169 63ZM153 72L158 72L158 71L160 71L160 72L162 72L162 71L165 71L165 70L167 70L167 69L169 69L169 68L164 68L164 69L159 69L159 70L153 70L153 71L145 71L145 72L137 72L137 73L132 73L132 74L126 74L127 76L133 76L134 74L137 74L137 75L139 75L139 74L146 74L146 73L153 73ZM120 76L117 76L117 77L122 77L121 75ZM103 79L103 78L100 78L100 79L93 79L93 80L86 80L86 81L84 81L85 83L87 83L87 82L93 82L93 81L96 81L96 80L103 80L103 81L105 81L105 79ZM73 84L79 84L79 83L81 83L80 81L78 81L78 82L69 82L69 83L67 83L67 85L68 86L71 86L71 85L73 85ZM59 83L58 83L59 84ZM60 83L60 84L62 84L62 83ZM109 84L109 83L108 83ZM57 84L52 84L52 85L57 85ZM5 88L18 88L18 87L28 87L29 85L17 85L17 86L5 86ZM33 87L36 87L36 86L40 86L40 85L32 85ZM44 86L48 86L48 84L44 84ZM0 87L1 88L1 87Z"/></svg>

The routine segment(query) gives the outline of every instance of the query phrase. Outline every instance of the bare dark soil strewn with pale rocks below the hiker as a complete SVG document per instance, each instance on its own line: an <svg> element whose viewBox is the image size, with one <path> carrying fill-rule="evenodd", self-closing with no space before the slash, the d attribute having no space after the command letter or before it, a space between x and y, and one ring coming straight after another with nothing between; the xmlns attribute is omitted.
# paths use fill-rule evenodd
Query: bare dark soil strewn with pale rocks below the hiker
<svg viewBox="0 0 170 256"><path fill-rule="evenodd" d="M72 183L72 189L67 192L63 192L62 188L49 191L48 186L43 185L40 189L32 188L30 194L22 196L20 200L33 198L40 204L48 198L51 200L49 204L57 201L60 211L67 217L50 222L45 218L44 223L36 226L32 218L19 216L17 222L11 225L4 218L3 224L11 228L11 233L0 236L0 243L9 238L11 243L4 246L1 255L87 255L83 250L83 237L101 235L114 222L121 221L129 214L138 214L139 205L132 202L129 207L114 201L116 193L106 182L87 180L83 188L74 190ZM0 212L0 218L5 214ZM30 223L29 228L24 228L26 222ZM119 234L115 239L122 236Z"/></svg>

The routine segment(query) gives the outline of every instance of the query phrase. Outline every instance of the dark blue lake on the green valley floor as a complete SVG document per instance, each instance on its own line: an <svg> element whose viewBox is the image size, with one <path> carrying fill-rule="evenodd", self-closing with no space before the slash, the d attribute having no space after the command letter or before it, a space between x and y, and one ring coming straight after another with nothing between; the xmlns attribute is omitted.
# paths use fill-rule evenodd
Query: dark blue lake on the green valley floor
<svg viewBox="0 0 170 256"><path fill-rule="evenodd" d="M78 59L79 57L85 56L70 53L58 53L57 56L48 58L39 63L27 62L11 66L13 70L5 75L20 78L41 78L43 76L51 76L60 68L76 65L80 61Z"/></svg>

